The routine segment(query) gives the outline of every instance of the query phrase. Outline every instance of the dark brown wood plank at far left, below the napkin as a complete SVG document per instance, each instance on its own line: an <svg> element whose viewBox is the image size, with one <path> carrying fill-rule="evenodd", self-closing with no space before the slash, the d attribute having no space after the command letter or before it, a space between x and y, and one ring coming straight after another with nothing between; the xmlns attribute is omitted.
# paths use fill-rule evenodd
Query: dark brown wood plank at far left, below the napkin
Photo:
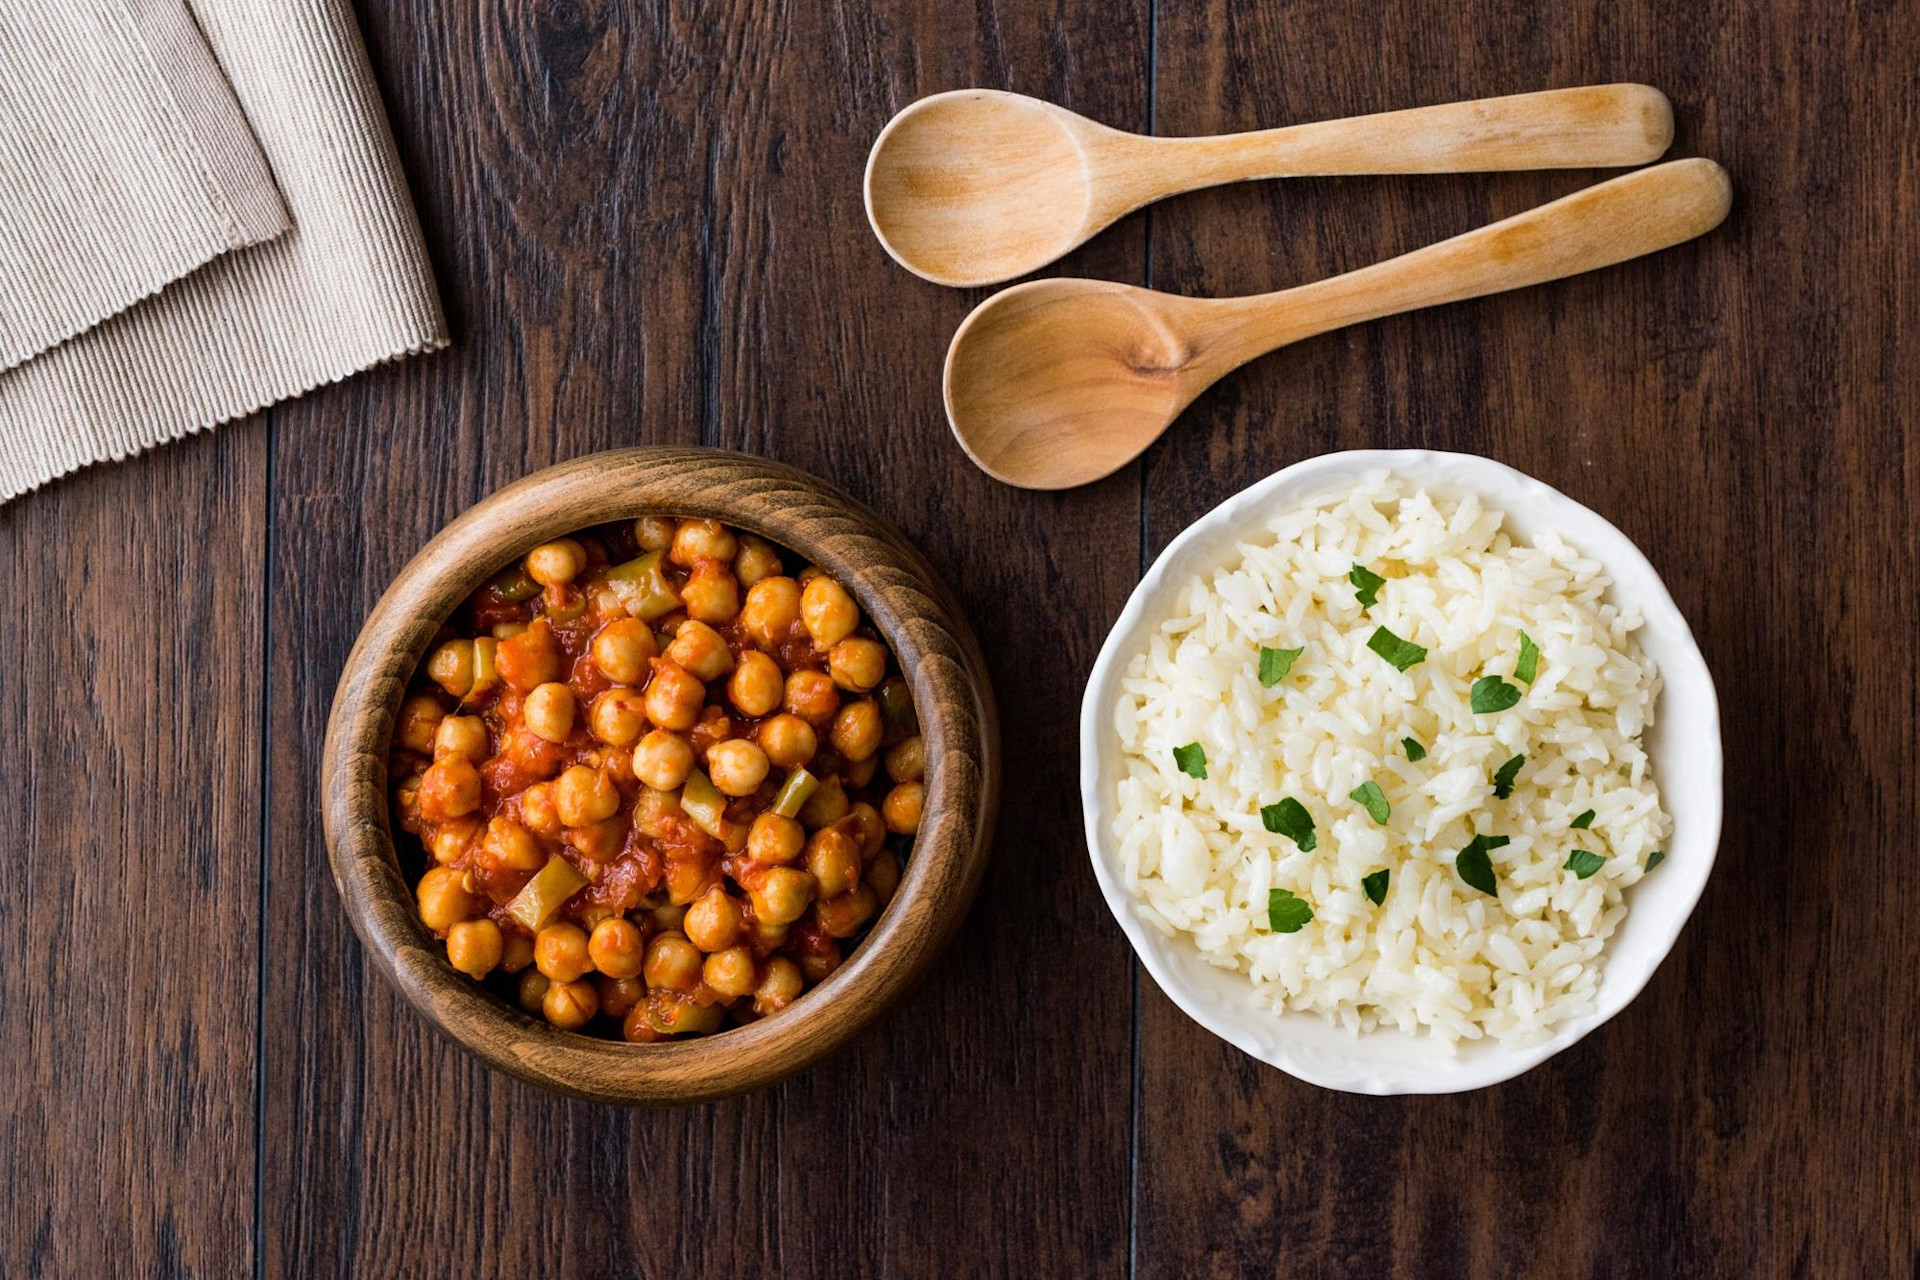
<svg viewBox="0 0 1920 1280"><path fill-rule="evenodd" d="M0 1274L253 1249L265 439L0 507Z"/></svg>

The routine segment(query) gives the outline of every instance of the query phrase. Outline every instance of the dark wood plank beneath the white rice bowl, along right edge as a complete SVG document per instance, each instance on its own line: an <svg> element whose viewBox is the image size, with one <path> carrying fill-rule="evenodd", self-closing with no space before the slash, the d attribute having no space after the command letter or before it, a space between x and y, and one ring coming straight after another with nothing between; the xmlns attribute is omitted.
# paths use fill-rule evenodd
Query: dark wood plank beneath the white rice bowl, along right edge
<svg viewBox="0 0 1920 1280"><path fill-rule="evenodd" d="M1582 280L1400 317L1269 357L1148 457L1158 549L1300 457L1488 453L1653 558L1720 685L1728 825L1642 998L1538 1071L1367 1100L1212 1040L1144 983L1142 1276L1889 1274L1912 1267L1920 1013L1920 15L1793 6L1398 0L1160 6L1158 121L1212 132L1644 79L1674 155L1734 175L1709 240ZM1363 56L1361 56L1363 50ZM1154 282L1279 288L1596 175L1236 188L1154 215ZM1908 213L1903 215L1901 211ZM1910 328L1910 326L1908 326ZM1907 1119L1903 1119L1907 1117Z"/></svg>

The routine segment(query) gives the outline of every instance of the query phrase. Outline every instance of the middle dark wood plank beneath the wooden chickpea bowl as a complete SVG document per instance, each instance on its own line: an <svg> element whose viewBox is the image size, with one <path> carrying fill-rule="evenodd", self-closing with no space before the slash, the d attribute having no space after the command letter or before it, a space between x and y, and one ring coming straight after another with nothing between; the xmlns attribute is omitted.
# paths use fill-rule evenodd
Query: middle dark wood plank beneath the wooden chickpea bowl
<svg viewBox="0 0 1920 1280"><path fill-rule="evenodd" d="M1131 583L1139 482L1033 503L972 472L939 363L973 299L883 257L858 178L893 109L956 84L1144 125L1144 4L367 17L459 340L275 420L267 1270L1117 1270L1127 960L1060 697L1098 635L1073 620ZM1092 251L1144 261L1139 226ZM981 618L1010 787L981 906L918 998L781 1088L624 1113L488 1073L367 971L313 773L330 674L438 524L555 457L668 439L808 466L922 541Z"/></svg>

